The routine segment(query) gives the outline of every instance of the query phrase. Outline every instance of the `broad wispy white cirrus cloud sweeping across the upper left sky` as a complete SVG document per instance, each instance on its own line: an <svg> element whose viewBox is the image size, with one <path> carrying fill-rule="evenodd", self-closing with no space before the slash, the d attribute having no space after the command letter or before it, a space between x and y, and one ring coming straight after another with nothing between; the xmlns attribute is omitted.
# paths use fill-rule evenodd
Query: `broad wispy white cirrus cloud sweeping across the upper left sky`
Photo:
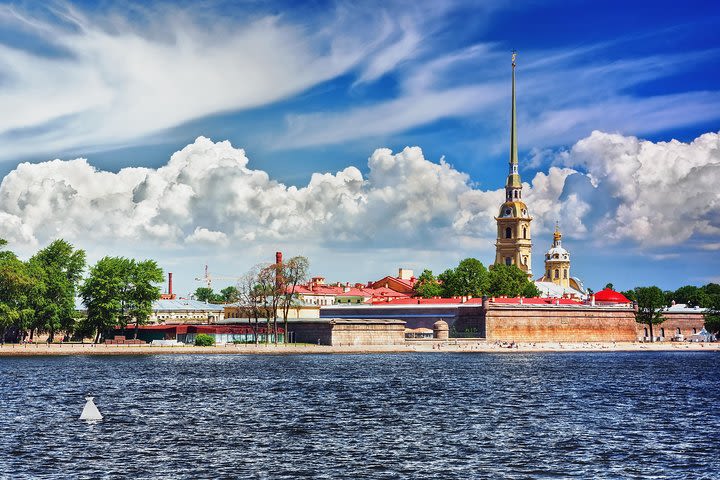
<svg viewBox="0 0 720 480"><path fill-rule="evenodd" d="M341 3L308 22L291 14L224 15L208 5L103 15L68 4L41 13L0 6L0 25L35 45L0 45L0 111L13 112L0 119L0 159L136 143L350 71L370 82L421 51L435 15L445 14L398 17L389 8Z"/></svg>

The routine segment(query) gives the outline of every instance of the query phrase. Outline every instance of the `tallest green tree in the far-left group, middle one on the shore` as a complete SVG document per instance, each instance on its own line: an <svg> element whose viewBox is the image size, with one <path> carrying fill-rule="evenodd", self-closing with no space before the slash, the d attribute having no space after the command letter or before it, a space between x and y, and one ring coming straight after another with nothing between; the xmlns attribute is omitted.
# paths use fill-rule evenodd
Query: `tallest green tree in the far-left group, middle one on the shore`
<svg viewBox="0 0 720 480"><path fill-rule="evenodd" d="M55 240L29 260L36 279L42 281L42 293L36 292L36 326L48 332L52 341L57 330L70 337L75 325L75 297L85 269L85 251L76 250L65 240Z"/></svg>

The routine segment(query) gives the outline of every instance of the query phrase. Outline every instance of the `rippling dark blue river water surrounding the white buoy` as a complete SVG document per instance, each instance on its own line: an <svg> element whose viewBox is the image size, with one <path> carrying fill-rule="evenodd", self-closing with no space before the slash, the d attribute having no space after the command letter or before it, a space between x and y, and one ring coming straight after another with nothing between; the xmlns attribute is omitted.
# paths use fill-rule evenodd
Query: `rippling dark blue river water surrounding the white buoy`
<svg viewBox="0 0 720 480"><path fill-rule="evenodd" d="M717 479L719 405L714 353L0 358L0 477Z"/></svg>

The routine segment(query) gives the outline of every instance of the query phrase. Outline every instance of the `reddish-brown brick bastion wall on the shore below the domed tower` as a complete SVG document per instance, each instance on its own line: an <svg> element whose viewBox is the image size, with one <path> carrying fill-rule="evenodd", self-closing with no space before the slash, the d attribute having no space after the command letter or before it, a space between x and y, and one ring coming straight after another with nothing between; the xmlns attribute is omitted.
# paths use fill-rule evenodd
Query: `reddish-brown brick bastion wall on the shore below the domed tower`
<svg viewBox="0 0 720 480"><path fill-rule="evenodd" d="M485 316L487 341L633 342L638 339L632 309L493 308Z"/></svg>

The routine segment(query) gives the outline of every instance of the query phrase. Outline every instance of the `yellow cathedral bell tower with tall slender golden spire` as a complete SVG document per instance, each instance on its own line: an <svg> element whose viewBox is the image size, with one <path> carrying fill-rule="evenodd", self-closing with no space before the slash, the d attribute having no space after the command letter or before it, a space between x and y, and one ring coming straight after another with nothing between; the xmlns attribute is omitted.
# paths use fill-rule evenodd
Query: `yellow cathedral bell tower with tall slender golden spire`
<svg viewBox="0 0 720 480"><path fill-rule="evenodd" d="M517 265L532 277L532 217L522 201L522 181L518 173L517 128L515 120L515 57L512 55L512 120L510 124L510 171L505 182L505 203L500 206L495 243L495 265Z"/></svg>

